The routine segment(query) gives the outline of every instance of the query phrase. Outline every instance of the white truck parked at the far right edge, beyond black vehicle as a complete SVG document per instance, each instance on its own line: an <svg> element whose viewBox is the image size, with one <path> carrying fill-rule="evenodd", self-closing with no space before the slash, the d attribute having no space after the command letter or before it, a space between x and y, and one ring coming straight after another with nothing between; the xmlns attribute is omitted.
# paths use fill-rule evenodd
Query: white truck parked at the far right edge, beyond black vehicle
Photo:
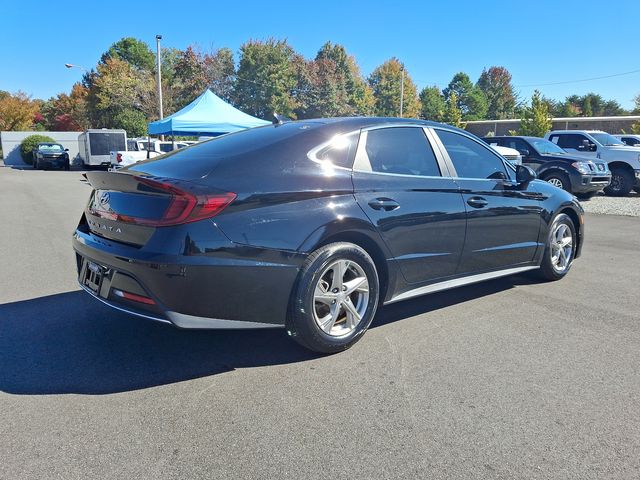
<svg viewBox="0 0 640 480"><path fill-rule="evenodd" d="M567 152L607 162L611 170L611 184L604 189L607 195L621 197L632 188L640 193L640 148L600 130L554 130L544 138Z"/></svg>

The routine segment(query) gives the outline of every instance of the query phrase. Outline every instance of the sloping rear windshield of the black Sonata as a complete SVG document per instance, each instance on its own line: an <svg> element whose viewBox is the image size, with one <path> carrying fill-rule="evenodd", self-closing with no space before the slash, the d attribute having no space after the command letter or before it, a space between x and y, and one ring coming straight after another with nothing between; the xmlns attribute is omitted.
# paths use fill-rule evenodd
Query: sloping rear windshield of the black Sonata
<svg viewBox="0 0 640 480"><path fill-rule="evenodd" d="M222 159L275 145L304 130L311 130L315 125L321 124L292 122L229 133L190 148L174 150L151 160L136 163L128 170L183 180L201 178L211 172Z"/></svg>

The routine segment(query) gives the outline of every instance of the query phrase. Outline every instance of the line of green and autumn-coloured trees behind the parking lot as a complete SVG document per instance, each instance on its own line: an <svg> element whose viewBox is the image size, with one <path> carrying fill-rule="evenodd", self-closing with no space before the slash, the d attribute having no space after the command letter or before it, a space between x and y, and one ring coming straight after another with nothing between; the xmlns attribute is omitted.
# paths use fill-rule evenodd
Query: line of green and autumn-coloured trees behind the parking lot
<svg viewBox="0 0 640 480"><path fill-rule="evenodd" d="M434 85L418 92L399 59L385 61L365 77L355 58L331 42L313 59L306 59L286 40L249 40L240 47L237 63L228 48L163 48L160 68L165 115L183 108L206 88L240 110L266 119L273 112L297 119L395 117L400 115L401 90L404 117L456 126L471 120L533 118L541 111L555 117L631 113L595 93L555 101L536 92L531 102L523 100L502 66L485 68L475 83L459 72L443 89ZM144 135L147 123L158 119L155 73L156 59L149 46L123 38L69 93L40 100L23 92L0 91L0 130L123 128L130 136ZM640 96L634 110L638 112Z"/></svg>

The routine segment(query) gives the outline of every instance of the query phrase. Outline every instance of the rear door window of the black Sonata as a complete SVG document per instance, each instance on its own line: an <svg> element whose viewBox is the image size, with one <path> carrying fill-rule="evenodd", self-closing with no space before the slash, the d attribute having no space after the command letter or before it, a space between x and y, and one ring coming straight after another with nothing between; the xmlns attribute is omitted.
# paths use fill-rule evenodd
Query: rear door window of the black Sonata
<svg viewBox="0 0 640 480"><path fill-rule="evenodd" d="M421 128L369 130L365 150L374 172L440 176L438 162Z"/></svg>

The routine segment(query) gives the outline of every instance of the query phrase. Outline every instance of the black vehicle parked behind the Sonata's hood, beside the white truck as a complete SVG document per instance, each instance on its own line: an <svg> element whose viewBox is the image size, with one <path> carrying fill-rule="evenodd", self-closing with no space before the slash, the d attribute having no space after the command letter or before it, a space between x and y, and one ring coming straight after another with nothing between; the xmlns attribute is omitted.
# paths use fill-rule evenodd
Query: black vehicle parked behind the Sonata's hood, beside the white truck
<svg viewBox="0 0 640 480"><path fill-rule="evenodd" d="M538 178L581 200L593 197L611 183L607 162L571 155L544 138L507 136L483 140L489 145L517 150L522 155L522 163L535 170Z"/></svg>

